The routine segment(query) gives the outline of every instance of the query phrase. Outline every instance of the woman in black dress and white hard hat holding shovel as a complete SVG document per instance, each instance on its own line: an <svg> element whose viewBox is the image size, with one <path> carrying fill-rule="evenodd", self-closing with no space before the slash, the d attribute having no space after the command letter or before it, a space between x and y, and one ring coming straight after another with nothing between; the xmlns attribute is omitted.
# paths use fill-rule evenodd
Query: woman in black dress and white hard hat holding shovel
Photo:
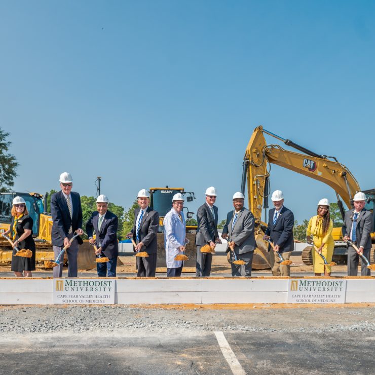
<svg viewBox="0 0 375 375"><path fill-rule="evenodd" d="M29 216L26 202L22 197L13 199L12 222L9 231L10 239L18 250L29 249L32 252L31 258L16 256L16 249L13 249L12 271L17 277L32 277L31 271L35 271L35 243L32 238L33 220ZM24 274L23 274L24 272Z"/></svg>

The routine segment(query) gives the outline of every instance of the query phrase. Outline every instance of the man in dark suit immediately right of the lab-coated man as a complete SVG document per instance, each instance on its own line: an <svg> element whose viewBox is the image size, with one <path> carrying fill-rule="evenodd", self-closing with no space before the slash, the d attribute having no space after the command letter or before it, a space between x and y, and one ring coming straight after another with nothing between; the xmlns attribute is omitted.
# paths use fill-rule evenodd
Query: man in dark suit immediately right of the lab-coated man
<svg viewBox="0 0 375 375"><path fill-rule="evenodd" d="M212 254L201 252L201 247L208 244L214 249L216 243L221 243L217 233L217 207L214 206L216 197L216 189L213 186L208 187L206 190L206 202L197 211L198 228L195 236L197 277L208 277L211 272Z"/></svg>

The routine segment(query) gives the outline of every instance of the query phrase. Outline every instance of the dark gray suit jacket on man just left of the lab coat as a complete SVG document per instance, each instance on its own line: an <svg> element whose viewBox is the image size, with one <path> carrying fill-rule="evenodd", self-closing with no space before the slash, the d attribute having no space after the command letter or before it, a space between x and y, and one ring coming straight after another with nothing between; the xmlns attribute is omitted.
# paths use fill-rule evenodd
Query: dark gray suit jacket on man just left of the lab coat
<svg viewBox="0 0 375 375"><path fill-rule="evenodd" d="M136 208L134 210L134 225L131 232L133 233L133 240L137 242L137 217L140 208ZM139 242L143 242L144 246L142 246L140 251L145 251L147 254L155 254L158 251L158 241L157 241L157 233L159 230L159 212L147 207L146 212L144 212L140 228L139 228Z"/></svg>

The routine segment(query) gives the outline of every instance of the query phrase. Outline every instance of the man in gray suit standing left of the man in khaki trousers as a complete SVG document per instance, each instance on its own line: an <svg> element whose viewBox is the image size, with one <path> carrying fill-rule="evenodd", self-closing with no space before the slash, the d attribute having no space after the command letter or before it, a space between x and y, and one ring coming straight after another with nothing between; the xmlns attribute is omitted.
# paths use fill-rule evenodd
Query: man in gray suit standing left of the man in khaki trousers
<svg viewBox="0 0 375 375"><path fill-rule="evenodd" d="M232 276L251 276L252 258L256 248L254 215L244 208L245 197L241 192L233 196L234 210L228 212L227 221L222 229L222 238L228 239L228 249L232 266ZM244 265L235 265L235 256L229 246L234 248L237 258L245 262Z"/></svg>

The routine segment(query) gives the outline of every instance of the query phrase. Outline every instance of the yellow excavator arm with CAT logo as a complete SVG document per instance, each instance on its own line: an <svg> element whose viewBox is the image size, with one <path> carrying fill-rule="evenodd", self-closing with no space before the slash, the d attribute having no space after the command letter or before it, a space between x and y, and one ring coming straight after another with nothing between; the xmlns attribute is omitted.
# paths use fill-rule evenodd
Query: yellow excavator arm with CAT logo
<svg viewBox="0 0 375 375"><path fill-rule="evenodd" d="M267 144L264 133L283 141L286 145L294 147L304 154L287 151L278 144ZM258 223L261 220L262 208L267 208L263 207L263 205L266 203L267 206L268 200L264 202L264 199L270 193L269 176L271 164L279 165L331 186L336 192L342 214L344 214L344 208L339 196L342 197L348 207L352 207L354 194L360 191L359 184L352 173L335 158L315 154L307 148L299 146L288 139L283 139L263 129L262 126L258 126L254 129L246 147L241 183L241 191L244 194L247 177L249 208ZM267 220L265 219L265 221Z"/></svg>

